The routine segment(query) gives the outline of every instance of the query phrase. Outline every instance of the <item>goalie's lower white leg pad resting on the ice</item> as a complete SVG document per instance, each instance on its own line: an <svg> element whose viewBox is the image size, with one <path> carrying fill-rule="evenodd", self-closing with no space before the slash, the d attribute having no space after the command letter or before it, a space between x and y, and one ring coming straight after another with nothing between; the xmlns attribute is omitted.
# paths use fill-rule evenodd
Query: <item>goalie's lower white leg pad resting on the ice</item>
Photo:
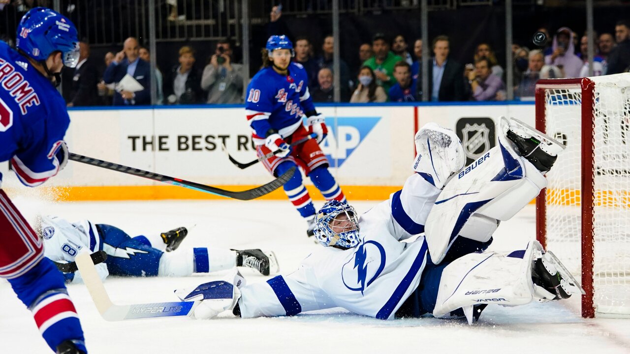
<svg viewBox="0 0 630 354"><path fill-rule="evenodd" d="M453 261L442 272L433 316L478 304L516 306L553 299L554 294L532 281L535 250L542 252L538 241L531 241L525 250L471 253Z"/></svg>

